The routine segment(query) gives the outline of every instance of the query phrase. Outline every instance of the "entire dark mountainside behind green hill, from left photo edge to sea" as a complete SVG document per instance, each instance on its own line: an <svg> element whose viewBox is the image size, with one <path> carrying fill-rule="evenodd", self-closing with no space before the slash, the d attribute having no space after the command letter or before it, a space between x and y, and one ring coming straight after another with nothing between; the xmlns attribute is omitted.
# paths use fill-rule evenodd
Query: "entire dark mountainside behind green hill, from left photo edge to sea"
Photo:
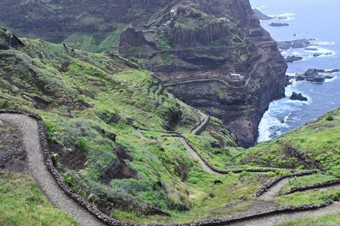
<svg viewBox="0 0 340 226"><path fill-rule="evenodd" d="M0 23L18 35L119 49L176 97L222 119L244 147L255 143L269 102L284 95L285 61L249 0L4 0L0 8Z"/></svg>

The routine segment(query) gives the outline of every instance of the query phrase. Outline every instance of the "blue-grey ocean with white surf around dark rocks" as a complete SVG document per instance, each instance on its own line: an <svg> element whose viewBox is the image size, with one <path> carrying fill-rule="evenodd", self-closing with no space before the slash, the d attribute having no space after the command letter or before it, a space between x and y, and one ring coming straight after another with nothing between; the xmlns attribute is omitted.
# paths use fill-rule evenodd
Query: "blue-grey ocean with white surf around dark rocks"
<svg viewBox="0 0 340 226"><path fill-rule="evenodd" d="M288 75L304 73L307 69L340 69L340 1L339 0L250 0L271 20L261 20L261 25L276 41L313 38L315 50L288 49L283 56L303 57L301 61L288 63ZM288 23L285 27L271 27L270 23ZM295 34L295 35L294 35ZM315 53L327 53L314 57ZM259 124L258 142L269 141L288 131L322 116L340 106L340 73L325 83L293 81L285 89L287 97L271 102ZM302 93L307 102L290 100L293 93Z"/></svg>

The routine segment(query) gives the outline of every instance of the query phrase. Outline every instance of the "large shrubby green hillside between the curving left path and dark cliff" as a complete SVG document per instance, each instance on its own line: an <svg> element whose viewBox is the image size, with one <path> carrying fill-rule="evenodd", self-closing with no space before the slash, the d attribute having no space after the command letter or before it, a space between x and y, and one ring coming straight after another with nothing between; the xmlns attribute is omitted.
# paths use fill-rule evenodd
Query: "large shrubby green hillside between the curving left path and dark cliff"
<svg viewBox="0 0 340 226"><path fill-rule="evenodd" d="M1 35L11 36L5 30ZM268 180L256 174L208 174L181 141L138 132L137 127L189 133L204 118L166 93L152 73L132 69L113 55L22 41L25 46L11 46L11 40L0 50L0 108L42 116L65 181L103 212L130 222L213 218L246 209L261 186L259 178ZM221 121L212 119L204 136L190 138L205 155L218 153L215 165L226 168L224 160L234 150L228 147L235 141ZM212 183L215 179L242 192L226 192ZM239 204L222 208L229 202Z"/></svg>

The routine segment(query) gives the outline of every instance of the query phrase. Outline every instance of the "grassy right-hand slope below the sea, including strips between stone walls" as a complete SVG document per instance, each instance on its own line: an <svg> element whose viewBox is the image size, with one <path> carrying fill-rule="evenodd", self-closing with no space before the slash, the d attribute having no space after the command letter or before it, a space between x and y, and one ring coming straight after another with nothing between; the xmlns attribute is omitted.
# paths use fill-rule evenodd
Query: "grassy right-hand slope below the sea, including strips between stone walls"
<svg viewBox="0 0 340 226"><path fill-rule="evenodd" d="M339 133L340 108L273 141L259 143L256 147L249 148L237 157L237 162L262 167L316 168L324 171L323 174L292 179L289 184L285 184L283 191L289 191L294 186L306 186L340 178ZM325 198L334 197L340 197L339 187L278 196L273 199L273 203L278 205L322 203Z"/></svg>

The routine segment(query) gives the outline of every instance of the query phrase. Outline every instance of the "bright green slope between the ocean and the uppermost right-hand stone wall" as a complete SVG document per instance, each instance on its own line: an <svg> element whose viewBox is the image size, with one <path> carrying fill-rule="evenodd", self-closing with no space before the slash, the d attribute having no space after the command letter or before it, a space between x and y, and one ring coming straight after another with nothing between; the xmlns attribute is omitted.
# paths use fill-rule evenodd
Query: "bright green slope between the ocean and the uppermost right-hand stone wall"
<svg viewBox="0 0 340 226"><path fill-rule="evenodd" d="M329 121L330 117L333 120ZM255 148L250 148L240 162L267 167L308 167L290 153L289 150L293 149L307 156L310 162L322 165L328 174L339 178L339 132L340 109L336 109L285 136L259 143Z"/></svg>

